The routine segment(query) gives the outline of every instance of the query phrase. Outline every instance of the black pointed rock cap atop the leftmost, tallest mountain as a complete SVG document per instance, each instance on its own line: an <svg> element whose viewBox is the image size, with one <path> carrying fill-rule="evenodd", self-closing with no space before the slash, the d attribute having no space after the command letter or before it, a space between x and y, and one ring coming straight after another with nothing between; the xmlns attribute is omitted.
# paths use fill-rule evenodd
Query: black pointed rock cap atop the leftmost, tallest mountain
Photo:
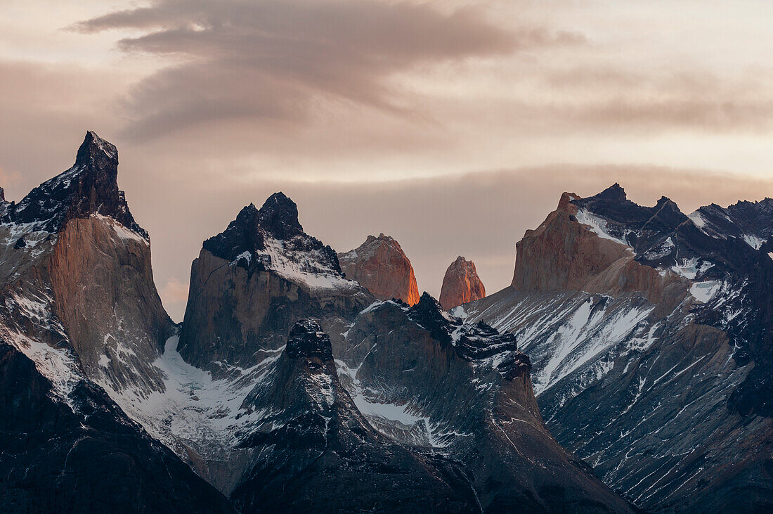
<svg viewBox="0 0 773 514"><path fill-rule="evenodd" d="M58 232L69 220L99 214L147 239L148 233L135 222L124 192L118 189L117 175L117 149L89 131L78 148L73 167L32 189L3 218L15 223L35 223L36 230Z"/></svg>

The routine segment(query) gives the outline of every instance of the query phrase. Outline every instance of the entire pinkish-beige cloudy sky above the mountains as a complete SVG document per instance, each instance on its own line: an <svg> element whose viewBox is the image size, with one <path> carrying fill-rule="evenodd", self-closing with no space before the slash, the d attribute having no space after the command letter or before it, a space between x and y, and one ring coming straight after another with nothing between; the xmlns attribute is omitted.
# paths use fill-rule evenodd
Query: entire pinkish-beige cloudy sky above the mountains
<svg viewBox="0 0 773 514"><path fill-rule="evenodd" d="M651 205L773 196L768 0L3 0L0 185L87 130L182 318L190 261L282 190L336 250L389 233L438 294L489 292L568 190Z"/></svg>

